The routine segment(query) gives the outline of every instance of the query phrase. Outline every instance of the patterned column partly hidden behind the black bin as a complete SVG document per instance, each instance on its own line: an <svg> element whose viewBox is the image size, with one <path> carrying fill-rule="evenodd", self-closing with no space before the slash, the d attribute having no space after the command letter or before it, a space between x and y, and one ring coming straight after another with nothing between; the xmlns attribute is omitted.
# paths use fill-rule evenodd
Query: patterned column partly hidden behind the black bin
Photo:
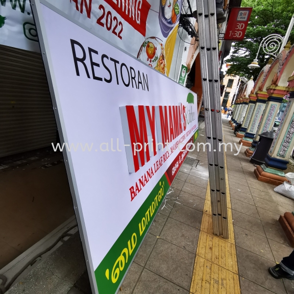
<svg viewBox="0 0 294 294"><path fill-rule="evenodd" d="M259 134L270 131L272 129L283 98L289 93L290 89L291 88L289 87L279 87L276 85L270 85L267 88L269 98L266 103L262 118L258 124L257 131L252 141L251 147L245 150L245 155L247 157L250 157L253 154L255 147L259 141Z"/></svg>

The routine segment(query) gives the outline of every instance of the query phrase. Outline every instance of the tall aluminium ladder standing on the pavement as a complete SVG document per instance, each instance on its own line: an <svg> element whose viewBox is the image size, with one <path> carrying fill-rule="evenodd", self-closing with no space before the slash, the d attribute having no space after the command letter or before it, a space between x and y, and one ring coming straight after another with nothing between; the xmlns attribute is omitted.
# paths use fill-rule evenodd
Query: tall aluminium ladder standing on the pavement
<svg viewBox="0 0 294 294"><path fill-rule="evenodd" d="M196 0L213 232L229 238L215 0Z"/></svg>

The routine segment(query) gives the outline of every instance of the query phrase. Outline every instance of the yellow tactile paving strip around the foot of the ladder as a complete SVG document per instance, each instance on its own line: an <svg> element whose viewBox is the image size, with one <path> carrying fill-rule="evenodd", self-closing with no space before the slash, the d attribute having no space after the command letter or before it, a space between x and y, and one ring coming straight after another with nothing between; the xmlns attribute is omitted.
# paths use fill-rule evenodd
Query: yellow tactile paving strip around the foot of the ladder
<svg viewBox="0 0 294 294"><path fill-rule="evenodd" d="M213 235L209 183L207 186L190 293L240 294L235 234L225 158L229 239Z"/></svg>

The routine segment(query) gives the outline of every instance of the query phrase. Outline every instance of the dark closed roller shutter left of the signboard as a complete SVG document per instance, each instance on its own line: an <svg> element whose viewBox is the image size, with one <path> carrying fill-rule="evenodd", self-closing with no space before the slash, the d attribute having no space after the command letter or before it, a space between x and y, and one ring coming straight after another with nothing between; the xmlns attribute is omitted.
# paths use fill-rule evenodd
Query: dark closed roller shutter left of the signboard
<svg viewBox="0 0 294 294"><path fill-rule="evenodd" d="M41 54L0 45L0 157L55 142L56 123Z"/></svg>

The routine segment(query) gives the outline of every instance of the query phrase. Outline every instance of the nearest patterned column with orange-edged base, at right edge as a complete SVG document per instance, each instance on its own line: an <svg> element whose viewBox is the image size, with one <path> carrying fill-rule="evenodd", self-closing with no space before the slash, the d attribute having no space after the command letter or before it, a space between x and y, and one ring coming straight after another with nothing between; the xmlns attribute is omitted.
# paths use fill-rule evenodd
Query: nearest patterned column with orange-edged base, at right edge
<svg viewBox="0 0 294 294"><path fill-rule="evenodd" d="M291 88L294 91L294 88ZM288 159L294 147L294 92L290 92L283 118L265 159L265 164L258 166L255 176L259 181L273 185L282 184L286 178Z"/></svg>

